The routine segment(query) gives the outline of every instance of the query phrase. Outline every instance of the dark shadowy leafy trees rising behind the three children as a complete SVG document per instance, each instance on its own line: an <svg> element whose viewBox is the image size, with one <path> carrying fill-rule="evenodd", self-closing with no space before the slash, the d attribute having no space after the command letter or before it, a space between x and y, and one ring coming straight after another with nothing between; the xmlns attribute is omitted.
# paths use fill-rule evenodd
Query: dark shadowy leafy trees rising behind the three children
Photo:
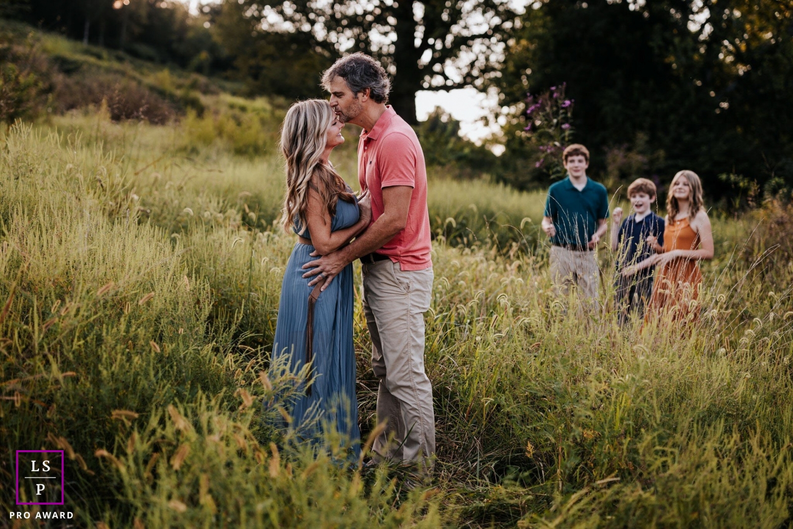
<svg viewBox="0 0 793 529"><path fill-rule="evenodd" d="M722 174L790 185L793 174L782 174L793 148L785 103L793 90L791 4L537 2L509 35L492 84L523 113L527 92L566 81L576 101L575 140L588 145L601 174L607 151L642 144L652 160L642 175L663 182L693 169L711 197L729 190ZM513 119L508 156L525 125Z"/></svg>

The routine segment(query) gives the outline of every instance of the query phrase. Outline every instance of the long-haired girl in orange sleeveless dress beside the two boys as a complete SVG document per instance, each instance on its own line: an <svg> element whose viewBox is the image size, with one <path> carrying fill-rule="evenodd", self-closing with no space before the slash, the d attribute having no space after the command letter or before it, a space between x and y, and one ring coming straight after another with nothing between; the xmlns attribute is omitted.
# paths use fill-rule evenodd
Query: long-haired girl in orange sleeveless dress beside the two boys
<svg viewBox="0 0 793 529"><path fill-rule="evenodd" d="M666 211L664 246L649 237L648 242L658 253L636 268L658 267L647 316L667 314L672 320L684 320L695 310L692 302L699 298L699 260L713 259L711 220L703 205L702 182L695 172L680 171L672 178Z"/></svg>

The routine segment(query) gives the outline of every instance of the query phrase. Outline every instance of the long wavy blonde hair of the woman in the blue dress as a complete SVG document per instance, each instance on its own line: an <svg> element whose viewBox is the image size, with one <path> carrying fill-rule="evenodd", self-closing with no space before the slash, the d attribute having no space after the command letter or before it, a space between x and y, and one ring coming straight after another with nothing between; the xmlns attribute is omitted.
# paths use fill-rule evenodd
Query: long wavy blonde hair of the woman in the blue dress
<svg viewBox="0 0 793 529"><path fill-rule="evenodd" d="M330 103L308 99L289 107L281 128L281 152L286 160L286 194L281 224L286 232L294 227L298 233L308 227L308 188L320 194L324 209L331 217L336 203L354 201L347 184L332 167L321 162L328 138L328 127L335 119Z"/></svg>

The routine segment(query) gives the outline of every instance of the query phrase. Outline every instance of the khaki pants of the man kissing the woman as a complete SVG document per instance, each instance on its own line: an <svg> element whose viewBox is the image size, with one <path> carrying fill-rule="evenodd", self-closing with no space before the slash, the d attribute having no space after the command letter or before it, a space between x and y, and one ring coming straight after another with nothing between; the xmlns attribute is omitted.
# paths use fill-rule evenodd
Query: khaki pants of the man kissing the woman
<svg viewBox="0 0 793 529"><path fill-rule="evenodd" d="M380 379L374 441L385 458L419 462L435 454L432 385L424 372L424 312L430 308L432 269L403 271L390 259L363 265L363 311L372 335L372 369ZM389 437L393 437L389 443Z"/></svg>

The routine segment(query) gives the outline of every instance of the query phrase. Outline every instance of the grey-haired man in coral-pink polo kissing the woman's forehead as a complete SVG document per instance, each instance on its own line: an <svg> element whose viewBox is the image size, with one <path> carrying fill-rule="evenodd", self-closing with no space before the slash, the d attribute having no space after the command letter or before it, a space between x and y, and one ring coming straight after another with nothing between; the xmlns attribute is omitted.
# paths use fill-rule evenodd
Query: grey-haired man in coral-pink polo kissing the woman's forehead
<svg viewBox="0 0 793 529"><path fill-rule="evenodd" d="M388 101L385 69L363 53L343 57L324 72L323 86L342 121L363 128L358 182L369 190L370 227L321 259L304 277L325 286L355 259L363 263L363 308L372 335L372 368L380 387L374 442L385 458L430 466L435 454L432 385L424 372L424 312L432 295L427 169L416 132Z"/></svg>

